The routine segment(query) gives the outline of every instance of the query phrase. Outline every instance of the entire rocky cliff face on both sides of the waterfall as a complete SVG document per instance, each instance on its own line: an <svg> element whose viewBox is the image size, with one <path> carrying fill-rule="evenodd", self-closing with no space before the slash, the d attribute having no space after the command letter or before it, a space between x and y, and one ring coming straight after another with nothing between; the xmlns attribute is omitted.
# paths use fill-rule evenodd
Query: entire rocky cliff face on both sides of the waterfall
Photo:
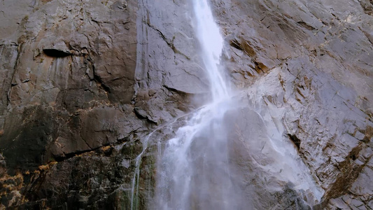
<svg viewBox="0 0 373 210"><path fill-rule="evenodd" d="M325 191L314 207L371 209L372 1L211 4L227 76L244 104L239 116L253 119L255 110L264 122L236 120L232 141L246 138L239 154L266 159L253 155L246 127L273 125ZM0 5L1 208L129 209L135 158L156 131L136 198L150 209L153 143L172 136L209 86L190 2ZM289 183L267 193L258 188L262 172L243 172L257 187L248 191L262 197L255 208L307 208Z"/></svg>

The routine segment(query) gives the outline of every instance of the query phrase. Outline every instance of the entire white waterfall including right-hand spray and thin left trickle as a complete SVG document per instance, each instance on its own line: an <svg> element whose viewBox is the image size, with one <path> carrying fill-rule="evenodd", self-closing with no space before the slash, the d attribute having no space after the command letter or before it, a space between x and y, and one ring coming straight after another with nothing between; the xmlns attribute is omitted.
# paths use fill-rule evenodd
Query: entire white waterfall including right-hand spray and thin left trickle
<svg viewBox="0 0 373 210"><path fill-rule="evenodd" d="M249 97L232 97L220 65L224 41L209 3L193 0L193 6L211 102L190 113L165 146L158 141L155 195L149 208L281 209L285 206L279 200L285 199L296 203L295 209L309 209L321 200L323 190L274 122L271 112L279 109L265 106L262 98L255 101L258 108L238 103ZM138 204L141 155L136 159L132 209Z"/></svg>

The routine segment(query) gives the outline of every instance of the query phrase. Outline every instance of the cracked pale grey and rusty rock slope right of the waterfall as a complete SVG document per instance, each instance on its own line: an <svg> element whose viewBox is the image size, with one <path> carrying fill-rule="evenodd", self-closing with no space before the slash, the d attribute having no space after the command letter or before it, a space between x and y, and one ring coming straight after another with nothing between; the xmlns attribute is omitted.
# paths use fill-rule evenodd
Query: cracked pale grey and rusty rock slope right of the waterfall
<svg viewBox="0 0 373 210"><path fill-rule="evenodd" d="M321 207L370 209L372 1L215 5L234 83L294 142L325 190Z"/></svg>

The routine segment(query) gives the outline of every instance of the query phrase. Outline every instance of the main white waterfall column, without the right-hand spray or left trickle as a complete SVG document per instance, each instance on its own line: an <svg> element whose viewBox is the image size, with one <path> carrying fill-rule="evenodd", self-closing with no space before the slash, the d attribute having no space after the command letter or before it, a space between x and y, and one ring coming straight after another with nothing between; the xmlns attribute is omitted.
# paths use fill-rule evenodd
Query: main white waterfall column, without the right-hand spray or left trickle
<svg viewBox="0 0 373 210"><path fill-rule="evenodd" d="M207 1L193 3L195 31L212 100L193 113L167 142L158 163L155 209L232 209L239 196L234 196L223 120L233 104L220 72L223 38Z"/></svg>

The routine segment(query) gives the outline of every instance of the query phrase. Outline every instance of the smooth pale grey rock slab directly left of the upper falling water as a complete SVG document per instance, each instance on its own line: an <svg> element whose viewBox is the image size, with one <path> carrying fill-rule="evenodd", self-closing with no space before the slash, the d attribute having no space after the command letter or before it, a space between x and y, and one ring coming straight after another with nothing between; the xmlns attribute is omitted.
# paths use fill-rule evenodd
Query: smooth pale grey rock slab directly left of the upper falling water
<svg viewBox="0 0 373 210"><path fill-rule="evenodd" d="M189 1L139 1L134 106L138 116L153 123L188 111L188 96L208 91L191 6Z"/></svg>

